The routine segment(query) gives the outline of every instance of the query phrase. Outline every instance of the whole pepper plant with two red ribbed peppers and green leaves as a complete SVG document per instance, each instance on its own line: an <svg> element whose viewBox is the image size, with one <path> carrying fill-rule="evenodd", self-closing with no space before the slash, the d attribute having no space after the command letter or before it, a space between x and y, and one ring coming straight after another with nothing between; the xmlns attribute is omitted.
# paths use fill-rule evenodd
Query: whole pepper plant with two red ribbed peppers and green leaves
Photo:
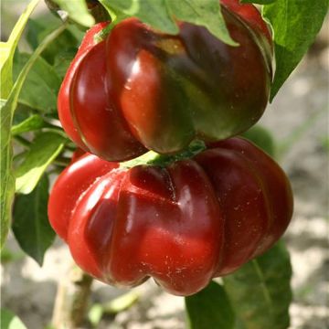
<svg viewBox="0 0 329 329"><path fill-rule="evenodd" d="M42 266L52 226L91 276L185 295L187 327L288 328L291 189L253 125L328 0L39 1L1 42L1 245Z"/></svg>

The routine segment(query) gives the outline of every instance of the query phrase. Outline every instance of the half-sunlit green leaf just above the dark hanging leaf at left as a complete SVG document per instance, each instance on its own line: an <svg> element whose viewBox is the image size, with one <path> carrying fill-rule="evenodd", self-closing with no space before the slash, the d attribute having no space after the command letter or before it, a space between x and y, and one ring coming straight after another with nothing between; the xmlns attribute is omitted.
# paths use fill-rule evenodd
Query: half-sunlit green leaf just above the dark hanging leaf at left
<svg viewBox="0 0 329 329"><path fill-rule="evenodd" d="M47 169L58 156L66 139L58 133L41 133L31 143L22 164L16 169L16 192L29 194Z"/></svg>

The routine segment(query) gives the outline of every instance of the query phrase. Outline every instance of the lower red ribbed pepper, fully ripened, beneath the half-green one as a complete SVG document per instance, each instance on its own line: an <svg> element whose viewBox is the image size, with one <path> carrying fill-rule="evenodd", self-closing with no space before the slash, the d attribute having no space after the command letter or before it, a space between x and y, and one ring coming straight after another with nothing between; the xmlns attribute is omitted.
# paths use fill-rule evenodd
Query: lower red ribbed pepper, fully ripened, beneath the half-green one
<svg viewBox="0 0 329 329"><path fill-rule="evenodd" d="M292 191L270 156L232 138L165 166L86 154L59 175L48 217L95 278L132 287L153 277L190 295L271 248L291 220Z"/></svg>

